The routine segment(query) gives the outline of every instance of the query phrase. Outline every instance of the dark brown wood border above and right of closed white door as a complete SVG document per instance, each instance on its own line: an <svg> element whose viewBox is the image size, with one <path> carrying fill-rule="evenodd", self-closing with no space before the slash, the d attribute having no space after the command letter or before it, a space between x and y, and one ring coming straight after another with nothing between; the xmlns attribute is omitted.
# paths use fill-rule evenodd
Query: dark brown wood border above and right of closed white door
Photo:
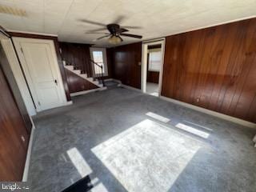
<svg viewBox="0 0 256 192"><path fill-rule="evenodd" d="M59 66L59 69L60 69L61 75L62 75L62 82L63 82L63 86L65 89L66 99L67 99L67 101L70 101L71 100L70 90L69 90L69 87L66 82L66 74L65 74L64 66L62 64L62 57L61 57L61 54L59 51L58 38L55 36L48 36L48 35L41 35L41 34L24 34L24 33L16 33L16 32L8 32L8 34L10 34L11 37L41 38L41 39L50 39L50 40L54 41L54 46L55 46L55 50L56 50L56 54L57 54L57 58L58 58L58 66ZM14 47L14 49L15 49L15 47Z"/></svg>

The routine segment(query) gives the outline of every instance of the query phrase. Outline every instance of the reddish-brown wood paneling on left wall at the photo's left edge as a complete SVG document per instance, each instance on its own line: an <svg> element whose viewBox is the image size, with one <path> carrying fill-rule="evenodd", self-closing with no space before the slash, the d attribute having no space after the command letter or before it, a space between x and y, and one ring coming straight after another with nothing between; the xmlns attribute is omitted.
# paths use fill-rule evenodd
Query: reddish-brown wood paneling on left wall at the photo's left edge
<svg viewBox="0 0 256 192"><path fill-rule="evenodd" d="M0 181L22 181L29 134L1 66L0 90Z"/></svg>

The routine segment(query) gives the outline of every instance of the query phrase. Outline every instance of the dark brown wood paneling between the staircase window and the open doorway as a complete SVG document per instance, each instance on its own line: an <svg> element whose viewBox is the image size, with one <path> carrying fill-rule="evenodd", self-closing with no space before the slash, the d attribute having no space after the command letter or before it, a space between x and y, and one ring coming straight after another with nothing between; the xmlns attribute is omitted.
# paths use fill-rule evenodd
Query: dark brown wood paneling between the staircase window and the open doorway
<svg viewBox="0 0 256 192"><path fill-rule="evenodd" d="M114 78L141 88L142 42L114 47Z"/></svg>

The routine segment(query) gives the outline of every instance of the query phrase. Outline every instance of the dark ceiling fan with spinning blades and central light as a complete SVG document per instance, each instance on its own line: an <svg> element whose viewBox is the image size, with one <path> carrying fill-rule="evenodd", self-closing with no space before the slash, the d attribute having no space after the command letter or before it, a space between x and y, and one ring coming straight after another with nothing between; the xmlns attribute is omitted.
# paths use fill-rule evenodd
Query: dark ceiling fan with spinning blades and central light
<svg viewBox="0 0 256 192"><path fill-rule="evenodd" d="M142 38L142 35L137 35L137 34L126 34L126 32L128 32L129 30L127 30L126 28L130 28L130 29L141 29L141 27L139 26L120 26L117 23L120 22L122 20L123 17L119 17L115 23L110 23L108 25L105 25L103 23L100 22L93 22L87 19L80 19L80 22L86 22L86 23L90 23L93 25L97 25L97 26L104 26L103 28L97 29L97 30L90 30L88 31L86 34L105 34L104 36L100 37L100 38L96 38L94 39L95 41L98 41L99 39L102 38L108 38L108 42L110 42L111 44L118 44L120 42L123 41L121 36L124 37L130 37L130 38ZM98 31L102 31L102 30L108 30L109 33L98 33Z"/></svg>

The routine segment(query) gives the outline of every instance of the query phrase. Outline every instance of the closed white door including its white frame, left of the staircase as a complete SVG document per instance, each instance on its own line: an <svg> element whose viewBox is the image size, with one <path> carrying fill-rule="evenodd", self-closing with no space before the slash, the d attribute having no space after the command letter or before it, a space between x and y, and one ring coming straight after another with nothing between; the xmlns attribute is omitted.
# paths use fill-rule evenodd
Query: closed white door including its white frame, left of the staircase
<svg viewBox="0 0 256 192"><path fill-rule="evenodd" d="M14 38L37 111L62 106L66 96L51 40Z"/></svg>

